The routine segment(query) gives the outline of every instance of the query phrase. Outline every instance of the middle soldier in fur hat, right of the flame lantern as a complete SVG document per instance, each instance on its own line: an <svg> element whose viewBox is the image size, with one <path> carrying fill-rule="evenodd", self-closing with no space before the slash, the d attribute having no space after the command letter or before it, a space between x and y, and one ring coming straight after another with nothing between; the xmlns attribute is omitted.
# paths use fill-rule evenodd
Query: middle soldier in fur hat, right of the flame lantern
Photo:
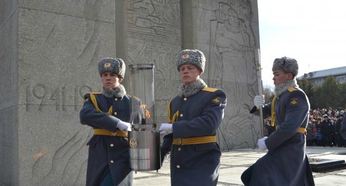
<svg viewBox="0 0 346 186"><path fill-rule="evenodd" d="M183 84L168 104L168 121L162 123L162 161L171 152L172 186L217 184L221 151L216 131L223 119L226 94L209 88L200 78L205 56L199 50L182 50L177 69Z"/></svg>

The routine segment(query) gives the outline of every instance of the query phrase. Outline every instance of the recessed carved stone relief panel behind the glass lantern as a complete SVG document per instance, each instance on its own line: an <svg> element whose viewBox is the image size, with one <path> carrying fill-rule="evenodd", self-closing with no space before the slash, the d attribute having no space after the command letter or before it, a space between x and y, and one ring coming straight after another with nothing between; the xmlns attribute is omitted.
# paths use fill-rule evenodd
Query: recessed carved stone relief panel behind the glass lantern
<svg viewBox="0 0 346 186"><path fill-rule="evenodd" d="M158 116L167 117L167 103L179 85L170 80L179 80L175 56L181 50L180 15L180 1L177 0L129 1L127 8L128 62L156 65Z"/></svg>

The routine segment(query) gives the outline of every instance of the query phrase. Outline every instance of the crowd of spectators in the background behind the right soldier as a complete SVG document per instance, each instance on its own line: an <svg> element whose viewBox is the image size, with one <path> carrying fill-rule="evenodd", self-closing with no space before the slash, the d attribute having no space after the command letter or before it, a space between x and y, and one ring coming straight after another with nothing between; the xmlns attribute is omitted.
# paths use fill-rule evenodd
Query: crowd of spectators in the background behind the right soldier
<svg viewBox="0 0 346 186"><path fill-rule="evenodd" d="M345 109L346 110L346 109ZM344 110L337 109L310 109L307 126L307 146L346 147L346 140L340 135L340 127ZM271 118L265 120L266 136L275 131L270 125Z"/></svg>

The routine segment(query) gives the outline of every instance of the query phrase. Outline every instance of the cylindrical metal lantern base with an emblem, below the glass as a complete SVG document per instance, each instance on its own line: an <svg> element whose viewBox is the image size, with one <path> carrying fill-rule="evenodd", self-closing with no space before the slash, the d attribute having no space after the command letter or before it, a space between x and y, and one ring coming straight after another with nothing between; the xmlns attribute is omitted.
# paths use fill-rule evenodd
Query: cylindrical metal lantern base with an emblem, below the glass
<svg viewBox="0 0 346 186"><path fill-rule="evenodd" d="M134 171L161 168L160 133L156 131L129 131L130 167Z"/></svg>

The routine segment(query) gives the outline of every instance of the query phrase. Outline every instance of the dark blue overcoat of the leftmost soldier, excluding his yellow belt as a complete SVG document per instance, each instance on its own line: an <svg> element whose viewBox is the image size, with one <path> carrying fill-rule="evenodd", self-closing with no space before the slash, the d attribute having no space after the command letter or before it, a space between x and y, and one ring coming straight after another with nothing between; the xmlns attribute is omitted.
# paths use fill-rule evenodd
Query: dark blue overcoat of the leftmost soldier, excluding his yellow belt
<svg viewBox="0 0 346 186"><path fill-rule="evenodd" d="M85 102L80 111L80 122L83 125L88 125L93 129L116 132L120 120L130 122L130 97L128 95L118 98L108 98L102 93L93 95L100 111L97 111L91 102L90 94L85 94ZM130 169L130 146L127 138L93 135L87 145L89 146L89 156L86 186L100 185L108 171L111 172L114 185L132 185L133 172Z"/></svg>

